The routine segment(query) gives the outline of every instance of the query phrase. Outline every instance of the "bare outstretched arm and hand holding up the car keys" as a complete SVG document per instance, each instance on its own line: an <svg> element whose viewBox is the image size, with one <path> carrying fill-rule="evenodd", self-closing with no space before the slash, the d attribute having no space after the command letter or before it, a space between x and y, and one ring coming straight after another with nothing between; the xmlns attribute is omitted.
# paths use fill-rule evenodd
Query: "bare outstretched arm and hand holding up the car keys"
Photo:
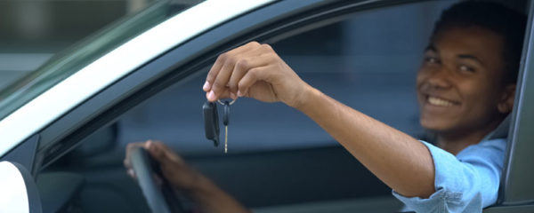
<svg viewBox="0 0 534 213"><path fill-rule="evenodd" d="M203 89L210 101L282 101L307 114L396 192L424 198L434 192L433 159L425 145L304 83L267 44L223 53Z"/></svg>

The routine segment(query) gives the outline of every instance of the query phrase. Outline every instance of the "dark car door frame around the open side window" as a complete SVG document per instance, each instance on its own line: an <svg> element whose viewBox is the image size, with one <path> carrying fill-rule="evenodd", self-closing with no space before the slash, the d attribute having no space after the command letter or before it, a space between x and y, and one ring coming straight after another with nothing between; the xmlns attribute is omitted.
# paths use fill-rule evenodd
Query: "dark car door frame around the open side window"
<svg viewBox="0 0 534 213"><path fill-rule="evenodd" d="M205 74L205 72L197 71L212 64L216 56L223 51L250 40L269 43L273 41L273 37L278 39L280 35L286 34L285 31L292 31L289 30L291 28L304 28L311 23L319 22L319 25L324 25L354 12L413 2L422 1L353 1L350 3L320 0L279 1L253 12L247 12L151 60L117 83L113 83L92 98L85 100L84 103L62 115L43 130L39 130L32 136L38 140L38 148L32 152L35 153L35 160L31 165L32 174L35 176L40 170L44 170L46 166L75 148L83 138L115 122L120 114L124 114L128 109L142 103L150 96L165 90L170 85L183 83L194 76ZM516 92L517 104L514 106L513 124L510 131L512 133L511 143L507 147L509 154L506 155L506 167L501 184L503 186L499 193L498 203L502 205L486 209L485 212L512 212L515 207L534 209L534 205L531 205L534 190L527 194L530 197L526 200L524 197L514 196L517 190L522 189L522 185L529 183L529 178L534 177L534 174L530 172L526 176L529 178L521 178L521 169L528 168L525 167L528 162L523 160L531 160L532 157L529 154L534 151L534 145L531 143L529 145L532 131L527 130L534 121L534 119L527 119L533 117L533 113L527 109L532 108L534 103L534 95L531 95L534 91L531 88L531 82L534 81L532 79L534 65L530 63L534 61L534 56L531 54L534 51L534 45L532 45L534 36L531 33L532 11L532 4L530 4L526 37L528 39L525 40L523 49L522 70ZM26 142L22 144L24 143ZM17 152L19 147L22 146L17 146L10 153ZM520 181L517 180L518 178Z"/></svg>

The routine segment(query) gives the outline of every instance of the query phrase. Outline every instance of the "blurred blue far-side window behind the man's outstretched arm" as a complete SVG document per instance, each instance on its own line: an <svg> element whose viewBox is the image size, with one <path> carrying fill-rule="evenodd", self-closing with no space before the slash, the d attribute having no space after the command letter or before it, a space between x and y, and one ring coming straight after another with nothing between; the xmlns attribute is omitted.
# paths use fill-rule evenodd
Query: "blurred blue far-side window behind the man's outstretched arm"
<svg viewBox="0 0 534 213"><path fill-rule="evenodd" d="M417 69L433 21L449 4L453 2L358 12L271 44L307 83L419 137L424 132L418 124ZM201 87L205 79L206 75L199 75L171 87L125 114L119 121L120 143L158 138L186 153L221 152L208 146L211 142L204 136L201 106L206 98ZM229 141L232 153L337 145L295 109L252 99L238 99L231 106Z"/></svg>

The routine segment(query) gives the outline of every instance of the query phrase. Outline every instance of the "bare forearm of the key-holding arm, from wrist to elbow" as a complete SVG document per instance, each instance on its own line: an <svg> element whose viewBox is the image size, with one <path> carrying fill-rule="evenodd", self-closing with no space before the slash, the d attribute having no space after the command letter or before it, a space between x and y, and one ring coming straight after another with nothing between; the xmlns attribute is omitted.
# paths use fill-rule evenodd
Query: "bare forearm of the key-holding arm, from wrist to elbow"
<svg viewBox="0 0 534 213"><path fill-rule="evenodd" d="M434 192L432 155L421 142L310 88L297 109L312 118L386 185L405 196Z"/></svg>

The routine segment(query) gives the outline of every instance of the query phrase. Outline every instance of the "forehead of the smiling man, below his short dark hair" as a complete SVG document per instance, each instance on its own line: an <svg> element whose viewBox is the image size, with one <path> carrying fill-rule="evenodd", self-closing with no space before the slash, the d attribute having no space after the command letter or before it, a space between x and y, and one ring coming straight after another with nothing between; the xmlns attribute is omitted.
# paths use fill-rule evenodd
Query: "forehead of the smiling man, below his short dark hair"
<svg viewBox="0 0 534 213"><path fill-rule="evenodd" d="M431 38L431 44L441 54L451 57L469 54L492 66L497 66L497 62L502 65L504 60L502 36L486 28L443 28Z"/></svg>

